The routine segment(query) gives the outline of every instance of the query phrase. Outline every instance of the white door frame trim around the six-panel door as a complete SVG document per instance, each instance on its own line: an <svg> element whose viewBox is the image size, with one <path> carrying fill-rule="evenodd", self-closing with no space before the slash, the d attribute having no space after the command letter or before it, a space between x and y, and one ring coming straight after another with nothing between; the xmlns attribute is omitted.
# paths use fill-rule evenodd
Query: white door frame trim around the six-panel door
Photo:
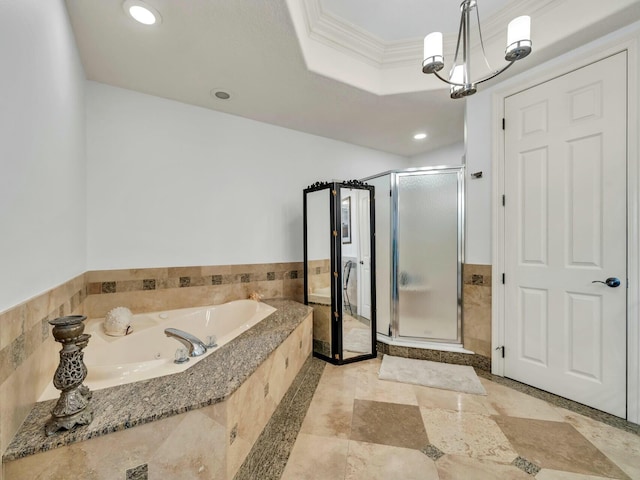
<svg viewBox="0 0 640 480"><path fill-rule="evenodd" d="M629 32L629 30L631 30ZM578 50L534 68L505 86L496 89L491 98L492 127L492 315L491 315L491 371L504 376L504 359L496 350L505 344L505 288L502 274L505 271L505 211L502 206L504 193L505 136L502 130L505 98L523 90L545 83L608 56L627 52L627 420L640 423L640 168L638 135L638 43L640 29L637 26L623 29ZM508 199L507 199L508 201Z"/></svg>

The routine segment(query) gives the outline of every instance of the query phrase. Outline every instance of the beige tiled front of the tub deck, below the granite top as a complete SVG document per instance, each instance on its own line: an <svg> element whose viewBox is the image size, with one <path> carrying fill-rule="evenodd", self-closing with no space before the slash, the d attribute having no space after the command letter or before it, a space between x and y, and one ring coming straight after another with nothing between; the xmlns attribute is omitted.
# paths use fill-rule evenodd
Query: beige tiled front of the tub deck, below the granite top
<svg viewBox="0 0 640 480"><path fill-rule="evenodd" d="M9 462L6 478L124 479L146 465L149 478L231 479L310 355L311 329L309 315L222 403Z"/></svg>

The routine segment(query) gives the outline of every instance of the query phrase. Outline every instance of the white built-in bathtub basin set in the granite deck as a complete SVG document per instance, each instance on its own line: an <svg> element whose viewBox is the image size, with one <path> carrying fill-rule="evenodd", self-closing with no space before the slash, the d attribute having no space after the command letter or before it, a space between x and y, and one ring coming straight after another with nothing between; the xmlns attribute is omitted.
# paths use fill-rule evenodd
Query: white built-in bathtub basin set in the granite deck
<svg viewBox="0 0 640 480"><path fill-rule="evenodd" d="M87 320L85 333L91 334L91 339L84 350L88 370L84 383L91 390L100 390L182 372L275 310L254 300L235 300L222 305L141 313L133 316L133 332L125 337L106 335L102 326L104 318ZM207 349L199 357L190 357L188 362L174 363L176 350L184 347L164 334L164 329L169 327L191 333L205 343L207 337L215 336L217 347ZM59 395L50 383L39 401Z"/></svg>

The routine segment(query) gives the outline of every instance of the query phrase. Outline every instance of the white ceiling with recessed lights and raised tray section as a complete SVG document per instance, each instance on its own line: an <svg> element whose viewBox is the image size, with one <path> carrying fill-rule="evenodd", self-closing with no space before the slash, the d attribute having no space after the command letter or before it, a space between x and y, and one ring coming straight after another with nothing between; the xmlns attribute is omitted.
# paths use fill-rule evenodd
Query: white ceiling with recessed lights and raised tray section
<svg viewBox="0 0 640 480"><path fill-rule="evenodd" d="M371 62L370 58L349 50L348 40L333 45L340 55L339 61L326 52L321 52L321 58L314 57L320 47L312 43L313 37L321 35L314 33L308 17L304 20L294 12L304 12L309 5L315 5L320 10L318 18L332 17L333 26L336 18L343 18L341 15L349 17L343 18L344 32L350 33L349 25L359 23L355 29L360 32L371 29L371 35L383 42L375 48L381 45L385 49L388 45L384 42L397 44L405 24L410 37L422 36L438 24L453 25L455 31L459 0L145 1L161 13L161 24L145 27L134 22L125 15L122 0L66 0L90 80L400 155L419 154L463 139L464 101L449 99L446 89L420 72L420 39L405 41L401 49L404 53L398 54L400 50L394 53L395 63ZM527 5L550 5L539 8L542 22L549 23L544 15L552 15L552 7L560 7L562 11L562 7L566 10L572 5L583 8L585 4L594 5L588 10L593 15L582 12L579 17L584 19L584 25L572 22L573 31L566 25L553 28L547 45L542 36L545 29L536 26L534 17L534 49L536 45L542 48L537 59L531 55L526 60L531 66L562 49L566 51L590 37L631 23L634 18L629 18L629 5L637 6L640 2L480 0L479 3L482 18L493 12L493 18L500 20L497 23L501 30L506 29L506 24L502 25L499 15L505 9L522 14L528 13L522 12ZM616 5L602 6L612 3ZM391 5L394 8L386 11ZM430 6L426 13L421 10L425 5ZM638 19L637 9L633 12ZM389 19L387 24L385 16ZM422 32L416 17L425 18ZM608 20L600 21L604 17ZM490 25L491 19L487 22ZM599 27L593 28L596 23ZM447 31L444 27L439 29ZM552 42L561 34L558 31L570 35L571 41L559 46L558 42ZM321 48L325 50L331 43L327 38L322 40ZM502 45L504 39L500 38L499 43ZM500 48L503 50L504 46ZM323 69L323 62L328 70ZM395 66L398 68L394 69ZM380 85L385 81L387 87L380 89L369 88L367 84ZM212 97L210 92L215 88L229 91L231 99ZM418 131L426 131L429 138L413 140Z"/></svg>

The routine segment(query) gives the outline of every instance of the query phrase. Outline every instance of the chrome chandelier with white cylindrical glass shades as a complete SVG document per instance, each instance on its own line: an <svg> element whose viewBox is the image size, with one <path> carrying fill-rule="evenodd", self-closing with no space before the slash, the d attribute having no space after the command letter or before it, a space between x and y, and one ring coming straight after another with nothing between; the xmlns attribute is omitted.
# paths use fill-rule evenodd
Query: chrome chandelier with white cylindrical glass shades
<svg viewBox="0 0 640 480"><path fill-rule="evenodd" d="M528 16L517 17L509 22L507 28L507 49L505 60L509 62L499 70L493 70L489 66L487 55L484 51L482 40L482 30L480 28L480 15L476 0L463 0L460 4L460 28L458 30L458 44L453 59L453 68L449 78L441 76L438 72L444 67L444 56L442 53L442 32L433 32L424 37L424 61L422 62L423 73L433 73L445 83L451 85L451 98L463 98L476 93L476 86L480 83L497 77L517 60L520 60L531 53L531 18ZM478 80L471 79L471 16L472 11L476 11L478 23L478 34L484 61L491 70L491 73ZM462 44L462 48L461 48ZM458 56L462 51L462 62Z"/></svg>

